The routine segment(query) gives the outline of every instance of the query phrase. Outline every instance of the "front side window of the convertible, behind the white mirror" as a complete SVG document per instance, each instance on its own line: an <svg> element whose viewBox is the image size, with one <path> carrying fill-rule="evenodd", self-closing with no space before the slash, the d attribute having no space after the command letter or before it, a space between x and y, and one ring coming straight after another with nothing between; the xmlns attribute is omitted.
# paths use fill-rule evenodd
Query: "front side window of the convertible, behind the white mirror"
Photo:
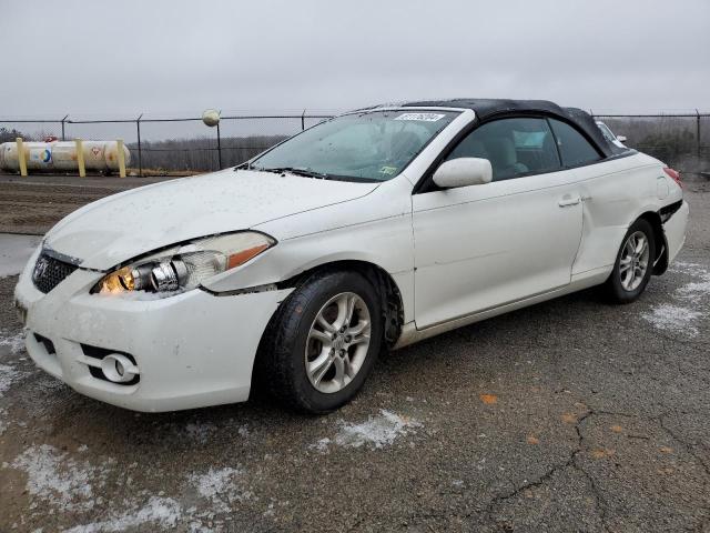
<svg viewBox="0 0 710 533"><path fill-rule="evenodd" d="M471 131L446 160L490 161L493 180L509 180L561 168L555 138L545 119L500 119Z"/></svg>

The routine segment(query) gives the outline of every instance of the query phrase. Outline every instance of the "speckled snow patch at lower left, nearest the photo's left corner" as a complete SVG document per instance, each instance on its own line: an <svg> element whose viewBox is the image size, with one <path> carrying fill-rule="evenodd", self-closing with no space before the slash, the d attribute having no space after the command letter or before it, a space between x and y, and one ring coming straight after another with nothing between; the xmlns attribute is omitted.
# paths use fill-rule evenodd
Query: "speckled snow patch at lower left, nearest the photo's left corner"
<svg viewBox="0 0 710 533"><path fill-rule="evenodd" d="M49 444L33 445L12 463L27 473L27 490L45 503L65 511L94 506L93 485L105 484L108 469L75 461Z"/></svg>

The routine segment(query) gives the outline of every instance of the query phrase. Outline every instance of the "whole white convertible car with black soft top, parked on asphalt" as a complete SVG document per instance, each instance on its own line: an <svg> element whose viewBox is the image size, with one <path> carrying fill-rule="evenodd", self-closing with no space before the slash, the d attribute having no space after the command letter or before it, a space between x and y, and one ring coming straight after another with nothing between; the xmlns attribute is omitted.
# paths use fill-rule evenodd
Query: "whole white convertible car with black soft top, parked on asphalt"
<svg viewBox="0 0 710 533"><path fill-rule="evenodd" d="M320 413L382 350L592 285L636 300L687 222L678 173L584 111L410 102L89 204L16 300L31 358L88 396L168 411L263 383Z"/></svg>

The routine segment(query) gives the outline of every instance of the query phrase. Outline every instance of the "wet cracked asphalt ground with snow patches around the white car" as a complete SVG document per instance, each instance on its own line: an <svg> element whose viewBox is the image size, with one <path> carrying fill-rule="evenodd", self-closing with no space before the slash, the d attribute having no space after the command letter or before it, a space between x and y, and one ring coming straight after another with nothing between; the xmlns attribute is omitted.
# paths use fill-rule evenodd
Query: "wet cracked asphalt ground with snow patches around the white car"
<svg viewBox="0 0 710 533"><path fill-rule="evenodd" d="M83 398L28 359L0 279L0 532L708 532L710 183L686 191L688 243L638 302L394 352L326 416Z"/></svg>

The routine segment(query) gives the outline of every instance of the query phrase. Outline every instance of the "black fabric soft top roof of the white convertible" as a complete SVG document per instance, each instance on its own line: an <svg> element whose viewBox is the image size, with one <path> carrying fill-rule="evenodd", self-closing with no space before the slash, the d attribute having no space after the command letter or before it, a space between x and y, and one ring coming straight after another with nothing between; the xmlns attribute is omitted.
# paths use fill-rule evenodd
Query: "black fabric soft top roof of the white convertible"
<svg viewBox="0 0 710 533"><path fill-rule="evenodd" d="M479 121L486 121L498 114L545 114L571 122L592 141L606 157L616 155L625 150L607 141L597 127L595 119L577 108L560 108L547 100L497 100L486 98L457 98L453 100L422 100L406 102L403 108L460 108L473 109Z"/></svg>

